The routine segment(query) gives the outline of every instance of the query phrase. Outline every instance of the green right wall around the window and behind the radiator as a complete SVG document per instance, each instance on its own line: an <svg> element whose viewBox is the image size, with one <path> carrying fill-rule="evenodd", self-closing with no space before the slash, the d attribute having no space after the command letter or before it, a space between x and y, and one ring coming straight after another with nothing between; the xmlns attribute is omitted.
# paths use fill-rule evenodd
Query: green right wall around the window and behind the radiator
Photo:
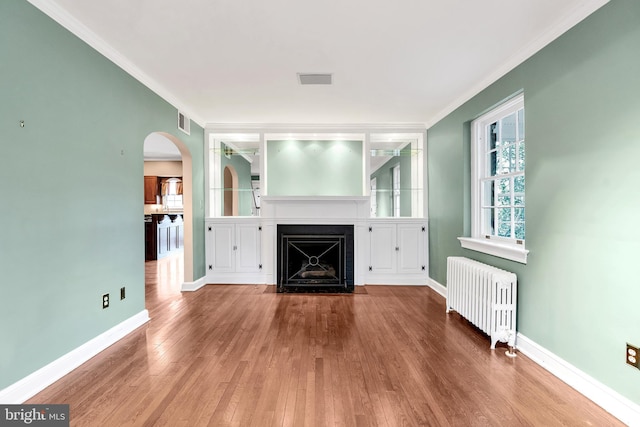
<svg viewBox="0 0 640 427"><path fill-rule="evenodd" d="M518 274L518 330L640 403L640 2L613 0L428 130L430 275L464 255ZM469 122L524 90L526 265L460 248Z"/></svg>

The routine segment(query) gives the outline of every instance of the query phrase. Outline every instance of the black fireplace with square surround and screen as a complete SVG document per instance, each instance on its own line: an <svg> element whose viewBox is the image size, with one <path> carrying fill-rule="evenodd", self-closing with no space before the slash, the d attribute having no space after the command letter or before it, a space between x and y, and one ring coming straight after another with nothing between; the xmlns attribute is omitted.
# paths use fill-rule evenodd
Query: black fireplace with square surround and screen
<svg viewBox="0 0 640 427"><path fill-rule="evenodd" d="M278 225L278 292L353 292L353 225Z"/></svg>

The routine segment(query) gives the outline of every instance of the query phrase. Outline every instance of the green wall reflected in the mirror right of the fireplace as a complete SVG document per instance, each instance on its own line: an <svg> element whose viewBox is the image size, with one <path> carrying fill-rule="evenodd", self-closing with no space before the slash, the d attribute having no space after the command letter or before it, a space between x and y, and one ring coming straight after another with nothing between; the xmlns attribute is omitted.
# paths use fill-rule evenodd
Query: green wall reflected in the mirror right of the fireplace
<svg viewBox="0 0 640 427"><path fill-rule="evenodd" d="M376 178L376 203L378 217L393 216L392 169L400 165L400 216L411 216L411 148L402 150L403 155L392 157L371 174Z"/></svg>

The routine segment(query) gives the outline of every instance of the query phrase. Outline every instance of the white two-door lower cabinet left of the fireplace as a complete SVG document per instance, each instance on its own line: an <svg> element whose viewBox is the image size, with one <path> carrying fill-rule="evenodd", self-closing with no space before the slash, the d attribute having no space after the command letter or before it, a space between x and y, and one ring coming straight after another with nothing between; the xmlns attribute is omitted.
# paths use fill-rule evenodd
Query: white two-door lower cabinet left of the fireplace
<svg viewBox="0 0 640 427"><path fill-rule="evenodd" d="M262 225L256 219L207 221L206 262L209 283L252 283L262 271Z"/></svg>

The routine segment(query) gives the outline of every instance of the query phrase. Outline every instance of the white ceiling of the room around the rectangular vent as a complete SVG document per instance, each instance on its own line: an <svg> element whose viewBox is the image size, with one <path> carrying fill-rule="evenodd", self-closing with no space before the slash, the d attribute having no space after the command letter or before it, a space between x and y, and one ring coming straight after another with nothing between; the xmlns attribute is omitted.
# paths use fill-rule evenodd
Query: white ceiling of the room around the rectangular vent
<svg viewBox="0 0 640 427"><path fill-rule="evenodd" d="M608 0L30 1L201 125L429 125Z"/></svg>

